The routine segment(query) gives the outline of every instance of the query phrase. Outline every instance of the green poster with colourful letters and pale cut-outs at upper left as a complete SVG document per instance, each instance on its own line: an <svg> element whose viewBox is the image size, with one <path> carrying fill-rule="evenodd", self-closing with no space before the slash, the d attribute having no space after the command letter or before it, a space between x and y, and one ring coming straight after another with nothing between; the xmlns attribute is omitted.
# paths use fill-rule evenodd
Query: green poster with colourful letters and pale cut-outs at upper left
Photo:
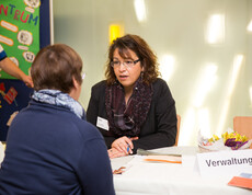
<svg viewBox="0 0 252 195"><path fill-rule="evenodd" d="M0 0L0 44L8 57L28 74L39 50L41 0ZM0 71L0 79L14 79Z"/></svg>

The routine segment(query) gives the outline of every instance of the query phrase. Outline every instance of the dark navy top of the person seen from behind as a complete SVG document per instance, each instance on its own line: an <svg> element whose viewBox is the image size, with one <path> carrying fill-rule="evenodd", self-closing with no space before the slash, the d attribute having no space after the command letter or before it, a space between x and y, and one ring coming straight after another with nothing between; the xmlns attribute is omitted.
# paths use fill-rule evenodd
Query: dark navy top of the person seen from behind
<svg viewBox="0 0 252 195"><path fill-rule="evenodd" d="M67 108L31 101L9 129L0 194L114 195L103 137Z"/></svg>

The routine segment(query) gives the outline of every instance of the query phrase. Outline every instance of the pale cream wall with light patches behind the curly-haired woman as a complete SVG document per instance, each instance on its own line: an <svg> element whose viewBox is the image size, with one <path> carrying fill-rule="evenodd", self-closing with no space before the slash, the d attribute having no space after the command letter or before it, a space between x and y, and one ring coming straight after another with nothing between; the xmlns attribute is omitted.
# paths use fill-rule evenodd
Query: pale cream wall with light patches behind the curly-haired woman
<svg viewBox="0 0 252 195"><path fill-rule="evenodd" d="M82 105L87 108L91 87L104 78L108 25L121 23L125 33L138 34L149 43L160 64L163 55L174 57L173 69L162 74L172 72L168 84L182 116L179 145L196 145L199 128L204 135L220 135L232 128L233 116L251 115L252 32L247 31L247 25L252 20L252 1L144 2L147 20L140 23L134 0L54 0L55 43L70 45L84 62ZM205 38L211 14L225 15L225 37L218 44L208 44ZM238 54L244 58L232 82L233 59ZM201 96L202 103L195 105Z"/></svg>

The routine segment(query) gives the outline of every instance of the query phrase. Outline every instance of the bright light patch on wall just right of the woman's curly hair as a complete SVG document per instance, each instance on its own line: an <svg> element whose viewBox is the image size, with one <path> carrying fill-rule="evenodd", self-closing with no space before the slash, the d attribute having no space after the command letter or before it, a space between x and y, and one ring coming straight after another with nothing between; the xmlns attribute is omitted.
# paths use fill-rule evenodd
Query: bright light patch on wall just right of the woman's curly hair
<svg viewBox="0 0 252 195"><path fill-rule="evenodd" d="M167 82L170 80L171 76L173 74L174 70L174 57L171 55L164 55L161 58L160 62L160 72L162 74L162 79Z"/></svg>

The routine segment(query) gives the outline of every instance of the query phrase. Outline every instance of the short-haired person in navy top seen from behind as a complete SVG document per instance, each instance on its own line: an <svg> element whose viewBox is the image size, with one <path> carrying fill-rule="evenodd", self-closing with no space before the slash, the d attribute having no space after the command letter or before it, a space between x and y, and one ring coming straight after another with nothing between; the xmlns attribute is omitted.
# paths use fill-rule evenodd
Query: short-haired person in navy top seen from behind
<svg viewBox="0 0 252 195"><path fill-rule="evenodd" d="M55 44L37 54L34 94L13 119L0 169L0 194L114 195L106 146L78 99L82 60Z"/></svg>

